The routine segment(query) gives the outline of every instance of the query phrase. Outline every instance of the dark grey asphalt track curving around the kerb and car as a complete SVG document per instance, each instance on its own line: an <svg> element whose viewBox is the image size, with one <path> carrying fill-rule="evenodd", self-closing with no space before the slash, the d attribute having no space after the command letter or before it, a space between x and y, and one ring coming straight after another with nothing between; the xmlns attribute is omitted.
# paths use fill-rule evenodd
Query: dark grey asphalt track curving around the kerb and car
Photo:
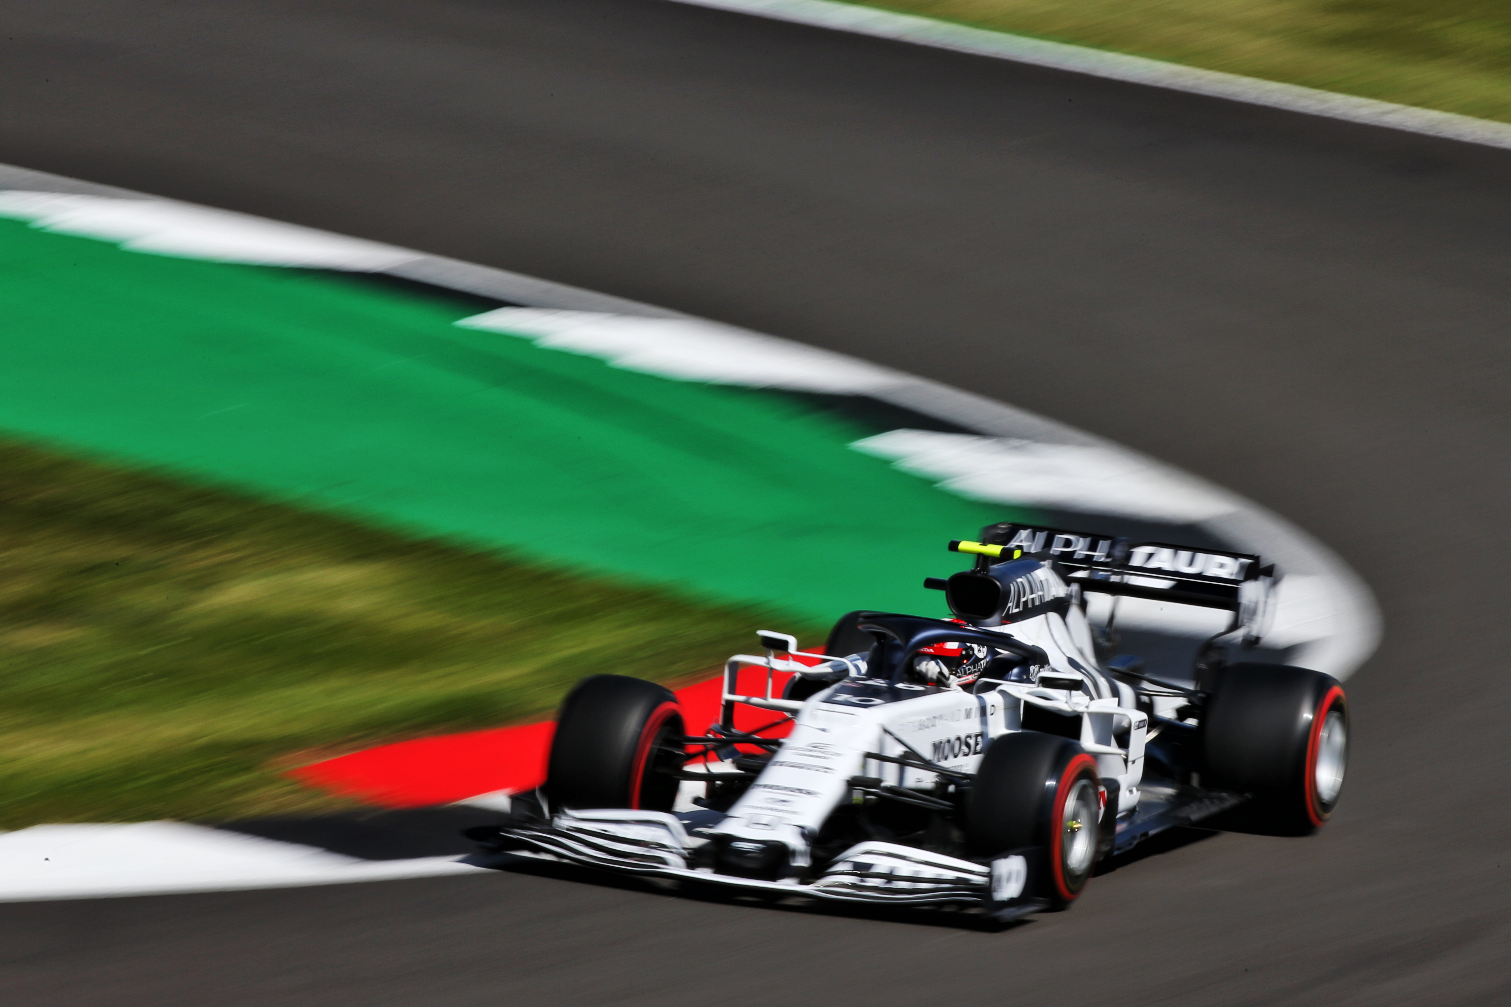
<svg viewBox="0 0 1511 1007"><path fill-rule="evenodd" d="M594 876L0 907L6 1004L1511 1001L1511 154L653 0L11 3L0 162L1006 399L1377 592L1310 839L1003 933Z"/></svg>

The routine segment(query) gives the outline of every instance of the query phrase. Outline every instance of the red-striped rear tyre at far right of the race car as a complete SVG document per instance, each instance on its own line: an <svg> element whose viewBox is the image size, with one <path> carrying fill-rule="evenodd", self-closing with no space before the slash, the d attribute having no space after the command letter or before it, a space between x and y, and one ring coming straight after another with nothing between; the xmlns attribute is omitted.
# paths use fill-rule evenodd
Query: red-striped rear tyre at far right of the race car
<svg viewBox="0 0 1511 1007"><path fill-rule="evenodd" d="M1286 664L1231 664L1201 716L1203 784L1251 796L1256 830L1306 835L1337 808L1348 699L1337 679Z"/></svg>

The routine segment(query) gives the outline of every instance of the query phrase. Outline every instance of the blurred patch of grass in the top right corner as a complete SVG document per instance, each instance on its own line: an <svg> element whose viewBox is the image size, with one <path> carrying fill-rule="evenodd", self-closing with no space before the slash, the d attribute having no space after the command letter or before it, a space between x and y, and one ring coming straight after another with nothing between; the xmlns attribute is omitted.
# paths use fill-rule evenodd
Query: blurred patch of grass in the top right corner
<svg viewBox="0 0 1511 1007"><path fill-rule="evenodd" d="M1511 0L875 0L870 6L1511 122Z"/></svg>

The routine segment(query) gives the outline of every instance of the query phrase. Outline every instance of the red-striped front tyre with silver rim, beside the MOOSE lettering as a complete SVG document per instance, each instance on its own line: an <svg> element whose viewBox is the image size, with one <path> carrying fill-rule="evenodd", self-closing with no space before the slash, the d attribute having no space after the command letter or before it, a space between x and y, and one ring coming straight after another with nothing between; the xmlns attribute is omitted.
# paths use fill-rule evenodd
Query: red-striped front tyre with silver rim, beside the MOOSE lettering
<svg viewBox="0 0 1511 1007"><path fill-rule="evenodd" d="M1102 782L1097 761L1053 734L1018 731L991 743L966 803L978 856L1040 847L1034 888L1059 909L1076 901L1097 862Z"/></svg>

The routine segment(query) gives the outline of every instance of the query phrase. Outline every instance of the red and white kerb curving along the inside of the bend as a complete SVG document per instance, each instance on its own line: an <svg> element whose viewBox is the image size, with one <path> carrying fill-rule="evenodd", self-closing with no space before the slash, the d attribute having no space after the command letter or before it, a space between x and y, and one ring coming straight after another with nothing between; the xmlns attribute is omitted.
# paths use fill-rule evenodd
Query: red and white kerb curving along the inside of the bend
<svg viewBox="0 0 1511 1007"><path fill-rule="evenodd" d="M1367 657L1378 637L1373 602L1352 572L1274 515L1112 442L855 358L533 278L24 169L0 169L0 217L110 242L128 252L423 278L506 303L458 320L462 329L517 337L544 350L675 382L887 402L944 420L952 429L893 429L849 447L934 483L944 491L941 498L1032 507L1061 522L1188 525L1275 559L1287 572L1278 586L1268 645L1287 648L1289 660L1340 678ZM839 599L830 604L843 607ZM1215 617L1127 599L1118 622L1126 631L1194 642L1221 628ZM707 681L683 690L694 720L712 716L716 687ZM500 797L539 782L548 741L545 723L500 728L372 749L295 774L379 808L490 809ZM0 901L335 885L482 870L461 853L367 859L171 821L47 824L0 833Z"/></svg>

